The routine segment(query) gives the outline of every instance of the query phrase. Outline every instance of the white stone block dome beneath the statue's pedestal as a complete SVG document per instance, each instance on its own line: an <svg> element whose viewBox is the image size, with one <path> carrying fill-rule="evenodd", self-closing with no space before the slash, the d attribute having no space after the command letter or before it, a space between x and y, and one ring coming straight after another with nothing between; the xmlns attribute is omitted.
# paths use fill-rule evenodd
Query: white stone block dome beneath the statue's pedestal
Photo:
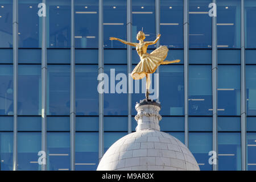
<svg viewBox="0 0 256 182"><path fill-rule="evenodd" d="M200 170L180 140L162 131L141 130L117 140L104 154L97 171Z"/></svg>

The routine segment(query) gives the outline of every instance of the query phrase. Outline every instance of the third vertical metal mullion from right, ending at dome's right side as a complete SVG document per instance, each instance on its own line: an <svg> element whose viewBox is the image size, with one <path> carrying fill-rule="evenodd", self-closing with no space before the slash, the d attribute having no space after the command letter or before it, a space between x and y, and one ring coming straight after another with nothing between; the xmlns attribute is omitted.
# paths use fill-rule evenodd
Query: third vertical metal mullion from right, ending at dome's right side
<svg viewBox="0 0 256 182"><path fill-rule="evenodd" d="M188 51L189 51L189 4L183 1L183 42L184 42L184 115L185 115L185 146L188 147Z"/></svg>

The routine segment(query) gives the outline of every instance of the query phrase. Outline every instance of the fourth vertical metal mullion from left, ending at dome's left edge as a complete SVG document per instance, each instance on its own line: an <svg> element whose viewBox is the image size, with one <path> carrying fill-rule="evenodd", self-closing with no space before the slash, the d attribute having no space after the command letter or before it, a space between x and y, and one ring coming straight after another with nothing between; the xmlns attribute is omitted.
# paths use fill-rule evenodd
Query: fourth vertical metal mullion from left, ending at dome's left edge
<svg viewBox="0 0 256 182"><path fill-rule="evenodd" d="M98 4L98 74L104 73L104 47L103 47L103 0ZM99 81L100 82L100 81ZM104 93L98 94L98 157L104 155Z"/></svg>

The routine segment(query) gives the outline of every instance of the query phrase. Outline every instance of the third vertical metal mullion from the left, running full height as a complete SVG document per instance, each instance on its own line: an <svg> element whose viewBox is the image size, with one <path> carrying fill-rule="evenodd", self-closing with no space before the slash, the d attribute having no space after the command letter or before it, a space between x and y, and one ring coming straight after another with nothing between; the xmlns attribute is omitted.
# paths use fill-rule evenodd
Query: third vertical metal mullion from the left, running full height
<svg viewBox="0 0 256 182"><path fill-rule="evenodd" d="M76 136L76 87L75 87L75 19L74 0L71 0L71 87L70 87L70 147L71 171L75 171L75 136Z"/></svg>

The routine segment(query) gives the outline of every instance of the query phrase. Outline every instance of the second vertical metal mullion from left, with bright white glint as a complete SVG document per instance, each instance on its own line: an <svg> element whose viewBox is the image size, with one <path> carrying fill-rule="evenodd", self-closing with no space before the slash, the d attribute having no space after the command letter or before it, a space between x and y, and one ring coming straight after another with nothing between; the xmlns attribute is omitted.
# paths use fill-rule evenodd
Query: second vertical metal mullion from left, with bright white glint
<svg viewBox="0 0 256 182"><path fill-rule="evenodd" d="M46 0L43 0L46 4ZM42 16L42 151L47 154L47 46L46 46L46 16ZM46 155L47 157L47 155ZM46 164L42 164L42 171L47 170Z"/></svg>

